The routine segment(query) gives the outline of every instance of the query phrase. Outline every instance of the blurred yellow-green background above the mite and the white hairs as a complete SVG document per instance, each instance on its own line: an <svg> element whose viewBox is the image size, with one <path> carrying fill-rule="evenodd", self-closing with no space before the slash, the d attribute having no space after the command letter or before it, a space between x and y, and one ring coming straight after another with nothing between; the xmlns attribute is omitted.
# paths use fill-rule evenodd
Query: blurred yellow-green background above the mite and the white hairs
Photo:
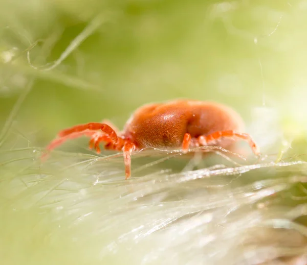
<svg viewBox="0 0 307 265"><path fill-rule="evenodd" d="M303 0L2 0L0 122L31 86L13 126L34 146L78 123L122 128L142 104L176 98L226 103L248 124L265 105L301 130L306 9Z"/></svg>

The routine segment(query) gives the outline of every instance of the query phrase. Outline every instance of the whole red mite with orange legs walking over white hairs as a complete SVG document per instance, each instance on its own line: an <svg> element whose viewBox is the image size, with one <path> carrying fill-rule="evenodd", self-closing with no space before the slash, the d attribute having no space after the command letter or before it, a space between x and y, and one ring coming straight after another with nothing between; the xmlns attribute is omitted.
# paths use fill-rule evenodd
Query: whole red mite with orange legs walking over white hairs
<svg viewBox="0 0 307 265"><path fill-rule="evenodd" d="M125 175L131 175L131 152L146 147L189 148L220 146L231 148L234 139L247 141L255 155L256 143L243 133L242 118L231 108L204 101L178 100L167 103L147 104L138 108L119 132L110 122L87 123L59 132L47 151L60 146L68 139L89 136L90 148L100 153L99 143L105 149L123 151ZM43 156L46 156L45 153Z"/></svg>

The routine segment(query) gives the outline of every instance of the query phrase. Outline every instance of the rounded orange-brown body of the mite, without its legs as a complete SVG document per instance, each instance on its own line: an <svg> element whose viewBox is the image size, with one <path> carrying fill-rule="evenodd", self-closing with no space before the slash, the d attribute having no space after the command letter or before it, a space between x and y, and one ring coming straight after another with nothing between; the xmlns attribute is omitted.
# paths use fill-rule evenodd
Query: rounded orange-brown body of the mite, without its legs
<svg viewBox="0 0 307 265"><path fill-rule="evenodd" d="M242 118L234 110L212 102L182 100L140 107L126 123L123 135L140 149L180 148L186 133L195 139L226 130L244 130ZM225 148L226 142L221 142Z"/></svg>

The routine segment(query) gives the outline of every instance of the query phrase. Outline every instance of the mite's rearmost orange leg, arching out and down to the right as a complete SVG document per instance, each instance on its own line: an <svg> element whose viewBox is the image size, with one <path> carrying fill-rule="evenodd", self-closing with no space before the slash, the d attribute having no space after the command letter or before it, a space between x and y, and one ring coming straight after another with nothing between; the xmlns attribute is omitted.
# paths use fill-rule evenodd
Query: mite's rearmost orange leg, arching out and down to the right
<svg viewBox="0 0 307 265"><path fill-rule="evenodd" d="M201 135L198 137L198 142L201 144L201 146L208 146L210 142L214 142L215 140L218 140L220 138L230 138L230 139L242 139L249 143L253 153L255 155L259 155L259 149L257 147L257 144L254 142L252 137L247 133L240 133L236 131L217 131L214 133L211 133L209 135Z"/></svg>

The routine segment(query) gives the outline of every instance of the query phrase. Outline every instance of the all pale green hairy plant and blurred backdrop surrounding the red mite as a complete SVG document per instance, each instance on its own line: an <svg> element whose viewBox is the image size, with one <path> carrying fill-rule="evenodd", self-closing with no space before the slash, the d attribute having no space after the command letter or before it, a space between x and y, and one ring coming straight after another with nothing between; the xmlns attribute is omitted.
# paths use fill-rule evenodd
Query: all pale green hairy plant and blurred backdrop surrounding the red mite
<svg viewBox="0 0 307 265"><path fill-rule="evenodd" d="M299 264L306 23L306 0L0 0L0 263ZM267 156L139 154L129 182L82 140L39 160L62 128L176 98L232 106Z"/></svg>

